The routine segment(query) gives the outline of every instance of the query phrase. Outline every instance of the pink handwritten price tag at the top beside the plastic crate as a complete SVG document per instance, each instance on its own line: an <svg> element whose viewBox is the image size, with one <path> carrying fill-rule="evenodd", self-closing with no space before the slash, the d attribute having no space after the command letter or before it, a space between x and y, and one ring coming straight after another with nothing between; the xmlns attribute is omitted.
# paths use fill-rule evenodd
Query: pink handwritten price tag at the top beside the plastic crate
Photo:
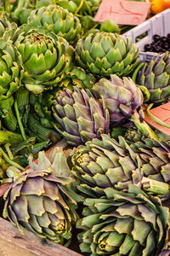
<svg viewBox="0 0 170 256"><path fill-rule="evenodd" d="M102 0L95 21L114 20L120 25L139 25L144 22L150 10L150 3L124 1L124 0Z"/></svg>

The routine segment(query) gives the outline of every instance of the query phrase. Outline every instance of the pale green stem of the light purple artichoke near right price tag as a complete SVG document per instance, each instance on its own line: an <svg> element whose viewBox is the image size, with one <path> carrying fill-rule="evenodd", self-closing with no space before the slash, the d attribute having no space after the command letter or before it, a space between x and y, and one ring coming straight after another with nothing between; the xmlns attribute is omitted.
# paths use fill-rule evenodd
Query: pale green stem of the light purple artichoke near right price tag
<svg viewBox="0 0 170 256"><path fill-rule="evenodd" d="M156 136L156 133L150 128L150 125L148 125L144 120L143 122L140 122L138 112L133 113L131 120L133 121L134 125L139 128L139 131L144 134L144 136L160 141L160 138Z"/></svg>

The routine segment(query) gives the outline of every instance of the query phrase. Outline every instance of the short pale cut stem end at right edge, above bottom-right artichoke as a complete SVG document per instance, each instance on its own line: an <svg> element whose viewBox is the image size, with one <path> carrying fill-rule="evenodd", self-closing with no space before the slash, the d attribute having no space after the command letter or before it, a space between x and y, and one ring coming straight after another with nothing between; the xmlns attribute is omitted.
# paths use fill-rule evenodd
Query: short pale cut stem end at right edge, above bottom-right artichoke
<svg viewBox="0 0 170 256"><path fill-rule="evenodd" d="M142 178L142 188L145 191L151 192L157 195L165 195L169 192L169 184L162 183L148 177Z"/></svg>

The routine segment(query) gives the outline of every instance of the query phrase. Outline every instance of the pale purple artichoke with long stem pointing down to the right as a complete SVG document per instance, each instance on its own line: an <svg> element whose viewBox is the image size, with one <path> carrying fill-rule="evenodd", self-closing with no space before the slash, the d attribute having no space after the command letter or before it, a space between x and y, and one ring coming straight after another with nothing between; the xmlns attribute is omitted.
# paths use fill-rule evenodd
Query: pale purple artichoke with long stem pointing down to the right
<svg viewBox="0 0 170 256"><path fill-rule="evenodd" d="M127 120L133 121L145 136L158 139L150 126L144 122L144 112L141 108L143 95L132 79L123 78L122 80L114 74L111 75L111 81L99 79L92 91L99 102L105 99L106 108L109 109L111 116L111 124L122 125Z"/></svg>

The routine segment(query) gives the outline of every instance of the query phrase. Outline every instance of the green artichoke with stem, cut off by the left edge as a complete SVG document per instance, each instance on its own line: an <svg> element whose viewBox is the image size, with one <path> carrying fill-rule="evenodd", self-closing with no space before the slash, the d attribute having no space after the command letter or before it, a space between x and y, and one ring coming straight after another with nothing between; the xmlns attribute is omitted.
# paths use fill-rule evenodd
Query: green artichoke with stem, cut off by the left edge
<svg viewBox="0 0 170 256"><path fill-rule="evenodd" d="M9 131L15 131L17 121L12 106L14 92L23 77L21 55L14 45L0 39L0 119Z"/></svg>

